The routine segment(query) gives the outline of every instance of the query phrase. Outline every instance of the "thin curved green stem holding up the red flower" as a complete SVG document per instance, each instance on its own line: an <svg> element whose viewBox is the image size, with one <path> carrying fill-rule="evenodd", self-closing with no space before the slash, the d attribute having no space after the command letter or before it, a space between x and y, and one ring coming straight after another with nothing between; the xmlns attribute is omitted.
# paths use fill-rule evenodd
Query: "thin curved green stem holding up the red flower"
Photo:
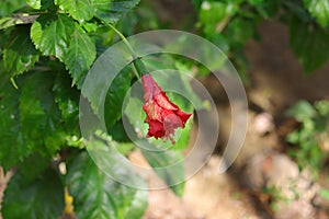
<svg viewBox="0 0 329 219"><path fill-rule="evenodd" d="M134 67L137 71L136 76L139 79L140 76L146 74L148 71L144 65L144 62L141 61L141 58L137 56L136 51L133 49L131 43L127 41L127 38L117 30L115 28L115 26L113 26L112 24L103 21L109 27L111 27L118 36L123 41L123 43L128 47L132 56L133 56L133 64Z"/></svg>

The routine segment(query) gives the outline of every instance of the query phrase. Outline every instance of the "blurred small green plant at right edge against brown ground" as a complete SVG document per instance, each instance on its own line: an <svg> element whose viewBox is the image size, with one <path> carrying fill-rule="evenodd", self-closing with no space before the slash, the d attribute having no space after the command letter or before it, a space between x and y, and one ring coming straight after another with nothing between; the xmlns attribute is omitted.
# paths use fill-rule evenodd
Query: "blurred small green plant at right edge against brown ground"
<svg viewBox="0 0 329 219"><path fill-rule="evenodd" d="M287 115L300 123L300 127L287 136L288 142L298 146L298 150L291 150L290 153L300 169L310 168L317 176L329 159L329 102L317 101L311 105L299 101L287 111Z"/></svg>

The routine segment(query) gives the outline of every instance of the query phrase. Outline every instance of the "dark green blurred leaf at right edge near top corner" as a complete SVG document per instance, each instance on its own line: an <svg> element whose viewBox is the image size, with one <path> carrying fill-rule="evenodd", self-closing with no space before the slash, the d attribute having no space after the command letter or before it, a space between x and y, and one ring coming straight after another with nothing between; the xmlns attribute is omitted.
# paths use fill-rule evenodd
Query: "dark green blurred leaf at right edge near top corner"
<svg viewBox="0 0 329 219"><path fill-rule="evenodd" d="M311 72L329 59L329 32L294 20L290 24L290 44L306 72Z"/></svg>

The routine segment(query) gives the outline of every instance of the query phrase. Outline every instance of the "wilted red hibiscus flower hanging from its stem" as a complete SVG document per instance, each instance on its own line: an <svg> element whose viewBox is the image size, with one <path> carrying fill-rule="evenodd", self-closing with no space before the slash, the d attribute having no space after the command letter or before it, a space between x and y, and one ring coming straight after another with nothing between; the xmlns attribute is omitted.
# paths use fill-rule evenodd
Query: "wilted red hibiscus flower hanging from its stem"
<svg viewBox="0 0 329 219"><path fill-rule="evenodd" d="M192 114L181 111L170 102L150 73L141 76L141 83L145 93L143 110L147 115L145 123L149 125L146 137L170 139L174 143L171 135L173 135L174 129L184 128Z"/></svg>

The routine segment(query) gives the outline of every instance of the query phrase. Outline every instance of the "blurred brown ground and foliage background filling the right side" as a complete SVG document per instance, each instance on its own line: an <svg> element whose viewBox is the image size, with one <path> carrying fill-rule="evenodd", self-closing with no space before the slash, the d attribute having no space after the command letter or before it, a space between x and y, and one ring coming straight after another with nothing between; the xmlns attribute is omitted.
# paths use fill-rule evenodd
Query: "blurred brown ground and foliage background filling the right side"
<svg viewBox="0 0 329 219"><path fill-rule="evenodd" d="M325 3L141 2L137 14L152 19L136 30L177 28L204 36L232 61L249 101L243 148L234 166L218 175L230 110L220 83L194 66L216 101L220 142L201 172L186 182L182 198L170 189L150 192L145 218L329 217L329 18L324 14L328 11Z"/></svg>

